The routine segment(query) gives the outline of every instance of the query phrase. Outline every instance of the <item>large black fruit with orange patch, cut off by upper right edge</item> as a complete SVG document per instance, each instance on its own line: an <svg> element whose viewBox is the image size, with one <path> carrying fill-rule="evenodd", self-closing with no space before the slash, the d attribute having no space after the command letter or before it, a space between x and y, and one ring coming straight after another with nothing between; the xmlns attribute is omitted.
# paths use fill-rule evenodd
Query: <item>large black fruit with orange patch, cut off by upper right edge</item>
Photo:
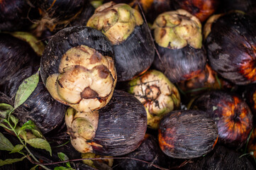
<svg viewBox="0 0 256 170"><path fill-rule="evenodd" d="M211 67L234 84L256 81L255 21L243 12L234 11L218 17L206 38Z"/></svg>

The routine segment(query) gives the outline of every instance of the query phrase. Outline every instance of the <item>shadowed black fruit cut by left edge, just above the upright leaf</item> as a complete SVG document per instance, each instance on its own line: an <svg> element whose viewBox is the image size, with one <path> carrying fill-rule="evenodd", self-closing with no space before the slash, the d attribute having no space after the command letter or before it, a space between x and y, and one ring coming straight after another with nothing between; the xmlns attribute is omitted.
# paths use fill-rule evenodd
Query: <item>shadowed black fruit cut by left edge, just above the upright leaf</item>
<svg viewBox="0 0 256 170"><path fill-rule="evenodd" d="M6 84L19 69L39 62L40 57L28 42L0 33L0 85Z"/></svg>

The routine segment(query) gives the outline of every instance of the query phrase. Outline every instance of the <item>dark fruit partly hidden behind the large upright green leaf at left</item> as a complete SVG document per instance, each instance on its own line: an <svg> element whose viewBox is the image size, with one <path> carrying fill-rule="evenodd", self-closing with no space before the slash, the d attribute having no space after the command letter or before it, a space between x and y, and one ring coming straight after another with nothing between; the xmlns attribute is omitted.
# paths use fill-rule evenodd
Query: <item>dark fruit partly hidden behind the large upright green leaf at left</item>
<svg viewBox="0 0 256 170"><path fill-rule="evenodd" d="M4 93L10 98L15 98L18 86L21 85L24 79L38 71L39 65L28 66L18 70L16 74L7 81L4 86ZM40 79L35 91L28 97L25 103L21 106L23 111L17 111L16 116L21 121L21 124L28 120L33 120L40 131L45 134L62 125L66 106L55 101L50 96L48 90L43 85Z"/></svg>

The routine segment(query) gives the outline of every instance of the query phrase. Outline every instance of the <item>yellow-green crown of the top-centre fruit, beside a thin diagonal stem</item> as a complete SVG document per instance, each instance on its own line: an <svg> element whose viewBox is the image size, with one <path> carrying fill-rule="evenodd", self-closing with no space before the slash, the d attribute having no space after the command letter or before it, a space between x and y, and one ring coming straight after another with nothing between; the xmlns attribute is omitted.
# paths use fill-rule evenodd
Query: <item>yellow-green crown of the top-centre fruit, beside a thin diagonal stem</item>
<svg viewBox="0 0 256 170"><path fill-rule="evenodd" d="M127 4L109 2L96 8L87 26L101 30L113 45L118 45L143 24L140 13Z"/></svg>

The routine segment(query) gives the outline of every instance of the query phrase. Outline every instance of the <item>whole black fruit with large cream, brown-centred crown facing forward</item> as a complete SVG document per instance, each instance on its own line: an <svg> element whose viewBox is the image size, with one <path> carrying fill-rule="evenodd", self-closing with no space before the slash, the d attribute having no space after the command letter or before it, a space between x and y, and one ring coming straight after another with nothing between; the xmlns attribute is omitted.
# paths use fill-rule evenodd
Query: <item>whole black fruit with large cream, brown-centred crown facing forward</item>
<svg viewBox="0 0 256 170"><path fill-rule="evenodd" d="M104 35L93 28L66 28L57 33L41 60L42 79L52 97L79 112L104 107L116 86L112 50Z"/></svg>

